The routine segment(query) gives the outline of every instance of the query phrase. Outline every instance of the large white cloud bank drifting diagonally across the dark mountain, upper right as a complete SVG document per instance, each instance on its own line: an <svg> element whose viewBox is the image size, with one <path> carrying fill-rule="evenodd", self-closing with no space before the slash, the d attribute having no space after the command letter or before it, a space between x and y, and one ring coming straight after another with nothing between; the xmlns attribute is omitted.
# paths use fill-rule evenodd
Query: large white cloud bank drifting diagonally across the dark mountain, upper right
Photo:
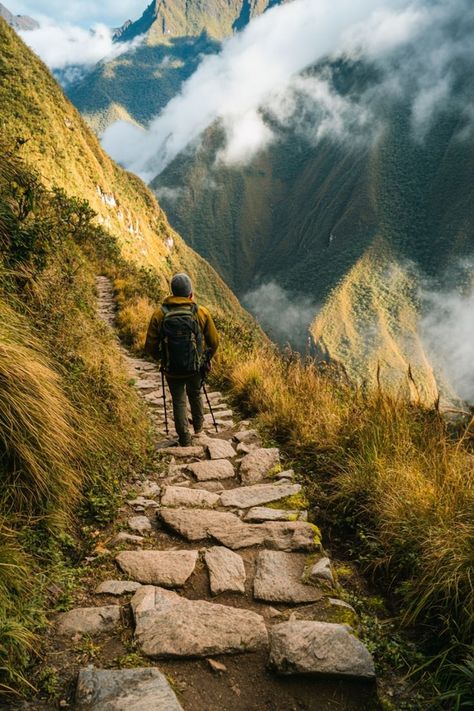
<svg viewBox="0 0 474 711"><path fill-rule="evenodd" d="M285 122L313 141L328 133L353 141L372 120L366 135L373 140L380 102L390 95L410 98L413 130L422 138L451 99L453 62L473 60L469 38L461 42L446 28L472 14L469 0L293 0L207 56L147 131L118 124L103 145L149 180L216 120L226 136L218 159L232 164L251 160ZM363 58L376 65L378 79L355 98L337 93L329 70L302 75L327 57Z"/></svg>

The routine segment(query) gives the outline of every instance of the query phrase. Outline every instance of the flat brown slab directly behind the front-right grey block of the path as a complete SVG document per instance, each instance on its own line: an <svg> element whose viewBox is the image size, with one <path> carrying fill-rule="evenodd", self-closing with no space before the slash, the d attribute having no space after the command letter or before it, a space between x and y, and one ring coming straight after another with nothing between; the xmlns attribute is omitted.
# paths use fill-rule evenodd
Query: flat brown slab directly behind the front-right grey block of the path
<svg viewBox="0 0 474 711"><path fill-rule="evenodd" d="M322 593L301 582L306 556L282 551L260 551L253 585L256 600L266 602L315 602Z"/></svg>

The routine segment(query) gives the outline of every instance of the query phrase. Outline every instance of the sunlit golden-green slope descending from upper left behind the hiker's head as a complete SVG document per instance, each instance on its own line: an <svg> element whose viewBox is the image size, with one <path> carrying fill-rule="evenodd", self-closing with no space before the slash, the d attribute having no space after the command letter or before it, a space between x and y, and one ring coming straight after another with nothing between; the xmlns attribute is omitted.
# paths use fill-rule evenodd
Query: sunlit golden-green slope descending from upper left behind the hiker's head
<svg viewBox="0 0 474 711"><path fill-rule="evenodd" d="M0 103L2 132L22 145L22 155L48 186L89 201L98 221L117 236L124 256L154 268L163 286L171 273L186 269L204 303L248 321L215 271L182 241L146 186L119 168L42 62L0 20Z"/></svg>

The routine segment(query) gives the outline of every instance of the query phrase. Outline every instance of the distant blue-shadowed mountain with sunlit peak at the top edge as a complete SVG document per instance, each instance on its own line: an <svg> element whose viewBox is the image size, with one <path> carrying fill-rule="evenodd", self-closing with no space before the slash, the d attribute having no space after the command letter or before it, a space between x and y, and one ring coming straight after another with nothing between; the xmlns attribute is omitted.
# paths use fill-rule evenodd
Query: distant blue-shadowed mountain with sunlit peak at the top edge
<svg viewBox="0 0 474 711"><path fill-rule="evenodd" d="M116 32L117 41L145 35L136 49L100 63L68 96L90 126L101 133L118 119L147 124L173 98L202 55L242 29L275 0L154 0L136 22Z"/></svg>

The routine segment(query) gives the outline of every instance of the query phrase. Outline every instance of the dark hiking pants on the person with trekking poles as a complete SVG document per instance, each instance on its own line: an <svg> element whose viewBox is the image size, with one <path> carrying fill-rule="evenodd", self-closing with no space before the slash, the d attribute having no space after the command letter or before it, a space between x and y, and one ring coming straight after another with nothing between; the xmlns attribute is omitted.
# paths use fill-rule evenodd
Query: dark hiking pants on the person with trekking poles
<svg viewBox="0 0 474 711"><path fill-rule="evenodd" d="M174 426L178 433L179 443L186 446L191 443L191 435L188 427L188 412L186 407L186 395L191 407L191 416L195 432L202 429L204 422L204 405L201 397L201 375L190 375L187 378L170 378L166 376L166 382L173 399Z"/></svg>

